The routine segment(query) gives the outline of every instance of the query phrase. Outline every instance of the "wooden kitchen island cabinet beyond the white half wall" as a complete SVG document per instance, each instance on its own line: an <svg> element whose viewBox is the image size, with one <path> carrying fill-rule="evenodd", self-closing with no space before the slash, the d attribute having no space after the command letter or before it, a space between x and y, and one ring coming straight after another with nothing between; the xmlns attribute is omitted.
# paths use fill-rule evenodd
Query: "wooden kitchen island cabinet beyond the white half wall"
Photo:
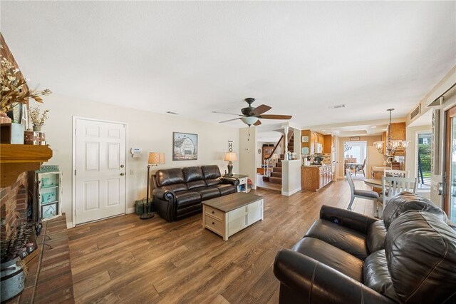
<svg viewBox="0 0 456 304"><path fill-rule="evenodd" d="M301 188L307 191L318 191L333 181L331 165L301 166Z"/></svg>

